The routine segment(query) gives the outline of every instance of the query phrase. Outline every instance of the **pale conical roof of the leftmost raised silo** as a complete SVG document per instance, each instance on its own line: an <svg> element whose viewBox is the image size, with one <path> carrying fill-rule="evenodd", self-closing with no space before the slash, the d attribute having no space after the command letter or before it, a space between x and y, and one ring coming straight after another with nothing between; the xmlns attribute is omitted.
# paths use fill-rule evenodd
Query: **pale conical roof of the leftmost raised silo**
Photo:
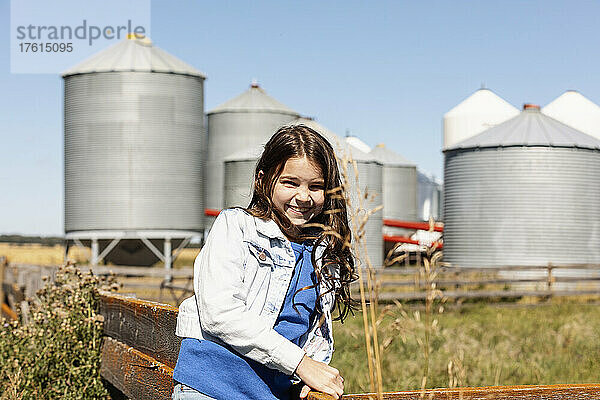
<svg viewBox="0 0 600 400"><path fill-rule="evenodd" d="M62 76L93 72L163 72L181 75L206 76L177 57L152 44L148 37L130 35L127 39L92 55L63 72Z"/></svg>

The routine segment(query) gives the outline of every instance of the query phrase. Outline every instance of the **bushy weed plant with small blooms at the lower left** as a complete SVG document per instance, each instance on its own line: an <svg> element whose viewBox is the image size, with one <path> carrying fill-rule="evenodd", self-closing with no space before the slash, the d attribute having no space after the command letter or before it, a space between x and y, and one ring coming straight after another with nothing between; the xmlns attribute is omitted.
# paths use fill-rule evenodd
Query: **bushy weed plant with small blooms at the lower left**
<svg viewBox="0 0 600 400"><path fill-rule="evenodd" d="M100 378L98 289L116 284L63 266L28 300L28 315L2 320L0 399L109 398Z"/></svg>

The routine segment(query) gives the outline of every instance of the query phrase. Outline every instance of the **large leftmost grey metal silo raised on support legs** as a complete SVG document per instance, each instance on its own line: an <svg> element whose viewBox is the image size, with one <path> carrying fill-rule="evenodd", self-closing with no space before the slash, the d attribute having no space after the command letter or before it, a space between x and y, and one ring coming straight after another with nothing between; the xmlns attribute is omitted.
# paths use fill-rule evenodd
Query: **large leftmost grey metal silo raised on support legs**
<svg viewBox="0 0 600 400"><path fill-rule="evenodd" d="M92 264L169 267L203 227L205 76L130 38L63 78L67 240Z"/></svg>

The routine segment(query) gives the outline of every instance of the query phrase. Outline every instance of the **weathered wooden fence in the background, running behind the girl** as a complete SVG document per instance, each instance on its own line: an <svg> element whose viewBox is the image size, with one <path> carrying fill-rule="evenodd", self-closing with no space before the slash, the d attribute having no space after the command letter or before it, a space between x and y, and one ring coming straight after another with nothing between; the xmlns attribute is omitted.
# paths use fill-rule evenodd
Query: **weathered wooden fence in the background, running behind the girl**
<svg viewBox="0 0 600 400"><path fill-rule="evenodd" d="M19 288L24 297L33 297L43 285L42 277L50 279L56 266L8 264L5 266L3 288L14 293ZM89 267L80 267L82 271ZM113 274L125 290L138 288L168 291L172 302L192 293L192 267L166 271L162 268L98 266L91 268L96 275ZM378 299L423 300L426 279L416 267L392 267L376 270L379 286ZM421 269L422 271L422 269ZM153 281L142 278L156 278ZM448 299L509 299L525 296L559 297L600 295L599 264L568 264L532 266L503 266L494 268L467 268L442 266L435 271L433 282ZM358 290L354 290L358 296ZM161 293L161 301L166 301ZM12 306L12 304L10 304ZM14 308L13 308L14 309Z"/></svg>

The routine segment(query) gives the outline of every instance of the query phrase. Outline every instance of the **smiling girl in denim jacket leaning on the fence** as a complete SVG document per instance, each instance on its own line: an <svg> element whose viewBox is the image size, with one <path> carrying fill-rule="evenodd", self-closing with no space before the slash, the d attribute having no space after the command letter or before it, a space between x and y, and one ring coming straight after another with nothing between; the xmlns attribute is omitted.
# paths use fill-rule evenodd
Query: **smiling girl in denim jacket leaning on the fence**
<svg viewBox="0 0 600 400"><path fill-rule="evenodd" d="M301 380L339 398L332 311L356 279L333 148L304 125L265 145L247 209L222 211L179 307L173 399L289 399Z"/></svg>

